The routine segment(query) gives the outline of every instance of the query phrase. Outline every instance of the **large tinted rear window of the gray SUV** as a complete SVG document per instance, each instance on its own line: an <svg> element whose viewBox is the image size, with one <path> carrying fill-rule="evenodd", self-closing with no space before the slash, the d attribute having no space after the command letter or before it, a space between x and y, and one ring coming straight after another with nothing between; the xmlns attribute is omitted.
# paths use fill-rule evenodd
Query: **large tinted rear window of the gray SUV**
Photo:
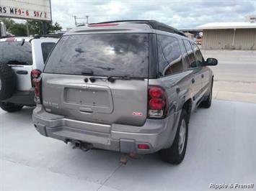
<svg viewBox="0 0 256 191"><path fill-rule="evenodd" d="M149 34L64 36L45 65L45 73L147 78Z"/></svg>

